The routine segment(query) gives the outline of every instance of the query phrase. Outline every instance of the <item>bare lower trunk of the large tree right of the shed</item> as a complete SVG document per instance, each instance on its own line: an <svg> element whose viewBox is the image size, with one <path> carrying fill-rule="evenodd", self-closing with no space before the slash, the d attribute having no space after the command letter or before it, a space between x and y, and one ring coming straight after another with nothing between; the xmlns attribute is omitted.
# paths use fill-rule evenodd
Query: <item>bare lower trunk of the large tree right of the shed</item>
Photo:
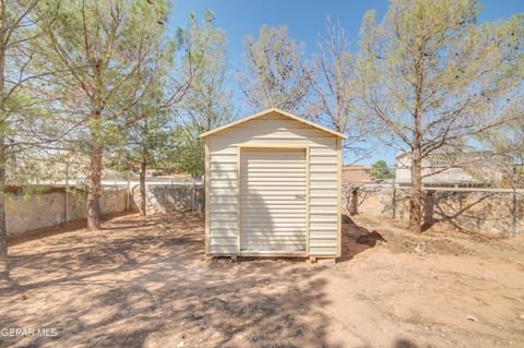
<svg viewBox="0 0 524 348"><path fill-rule="evenodd" d="M412 152L412 193L409 196L409 231L420 233L422 201L422 158L420 149Z"/></svg>

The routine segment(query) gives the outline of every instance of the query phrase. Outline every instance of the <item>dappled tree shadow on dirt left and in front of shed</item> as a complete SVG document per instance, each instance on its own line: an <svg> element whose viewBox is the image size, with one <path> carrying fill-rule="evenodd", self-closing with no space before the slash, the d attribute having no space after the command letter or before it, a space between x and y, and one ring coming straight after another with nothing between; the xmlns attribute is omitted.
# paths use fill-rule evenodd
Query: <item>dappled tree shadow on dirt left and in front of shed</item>
<svg viewBox="0 0 524 348"><path fill-rule="evenodd" d="M210 261L203 236L201 215L127 216L102 231L13 247L0 277L0 327L59 335L5 344L333 347L321 312L326 280L314 267Z"/></svg>

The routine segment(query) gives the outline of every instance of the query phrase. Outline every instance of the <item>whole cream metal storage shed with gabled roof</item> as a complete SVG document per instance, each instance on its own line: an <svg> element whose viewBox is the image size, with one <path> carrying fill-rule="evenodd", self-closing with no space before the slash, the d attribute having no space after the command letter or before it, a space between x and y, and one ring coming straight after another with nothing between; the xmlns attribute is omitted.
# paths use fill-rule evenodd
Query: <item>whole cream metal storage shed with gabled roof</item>
<svg viewBox="0 0 524 348"><path fill-rule="evenodd" d="M207 255L341 255L344 134L269 109L201 136Z"/></svg>

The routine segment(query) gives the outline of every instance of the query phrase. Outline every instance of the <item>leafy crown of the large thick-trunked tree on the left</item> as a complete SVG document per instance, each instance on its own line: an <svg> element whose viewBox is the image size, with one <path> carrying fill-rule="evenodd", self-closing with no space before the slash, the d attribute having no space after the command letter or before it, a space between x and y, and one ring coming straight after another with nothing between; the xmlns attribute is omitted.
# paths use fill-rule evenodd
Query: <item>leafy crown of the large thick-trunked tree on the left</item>
<svg viewBox="0 0 524 348"><path fill-rule="evenodd" d="M56 72L49 93L58 97L62 129L74 127L67 141L76 149L90 154L92 148L107 148L145 117L130 110L154 93L159 61L171 59L174 44L162 25L168 11L168 1L38 4L36 16L44 31L34 47L41 52L38 68Z"/></svg>

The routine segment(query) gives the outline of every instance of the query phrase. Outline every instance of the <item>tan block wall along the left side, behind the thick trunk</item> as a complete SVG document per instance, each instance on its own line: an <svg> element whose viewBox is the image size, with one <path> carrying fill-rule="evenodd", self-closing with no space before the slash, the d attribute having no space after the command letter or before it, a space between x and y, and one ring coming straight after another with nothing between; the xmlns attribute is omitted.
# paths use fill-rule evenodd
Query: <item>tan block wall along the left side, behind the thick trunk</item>
<svg viewBox="0 0 524 348"><path fill-rule="evenodd" d="M69 220L86 218L85 194L69 196ZM100 201L102 214L126 211L126 190L105 190ZM66 223L66 193L9 196L5 202L8 235L23 233Z"/></svg>

